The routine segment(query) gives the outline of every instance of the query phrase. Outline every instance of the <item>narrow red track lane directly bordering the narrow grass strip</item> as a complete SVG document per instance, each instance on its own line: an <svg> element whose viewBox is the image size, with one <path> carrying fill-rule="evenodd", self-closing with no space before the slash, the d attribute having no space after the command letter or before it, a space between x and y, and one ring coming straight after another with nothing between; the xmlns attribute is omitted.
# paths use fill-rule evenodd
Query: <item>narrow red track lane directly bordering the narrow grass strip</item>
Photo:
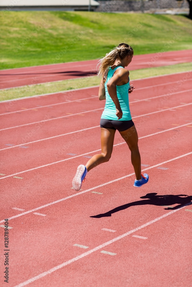
<svg viewBox="0 0 192 287"><path fill-rule="evenodd" d="M161 93L171 93L176 92L180 87L185 87L185 84L188 84L191 79L192 72L181 72L176 74L161 75L159 77L149 77L133 81L131 80L130 83L136 87L132 95L137 93L139 90L148 88L154 89L155 91L157 87L160 88ZM169 85L171 85L172 88L169 87ZM71 101L72 98L80 100L82 98L82 93L84 96L98 95L98 86L0 102L0 113L4 114L13 111L20 112L20 110L28 108L41 108L39 106L59 104L60 102ZM139 95L142 97L141 91L139 92ZM145 93L143 93L143 95L145 96Z"/></svg>

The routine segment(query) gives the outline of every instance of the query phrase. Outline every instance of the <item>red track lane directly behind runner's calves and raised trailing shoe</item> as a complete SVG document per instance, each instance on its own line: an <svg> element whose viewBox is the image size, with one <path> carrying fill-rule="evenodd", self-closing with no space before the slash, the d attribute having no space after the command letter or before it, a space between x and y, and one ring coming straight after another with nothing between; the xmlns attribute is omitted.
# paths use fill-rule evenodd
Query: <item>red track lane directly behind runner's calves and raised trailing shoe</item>
<svg viewBox="0 0 192 287"><path fill-rule="evenodd" d="M183 127L182 129L180 128L180 132L172 130L169 132L159 133L152 137L146 137L141 139L139 148L142 158L142 164L147 164L150 169L151 166L154 165L154 162L162 162L162 159L163 161L169 160L170 156L172 156L172 158L175 158L177 156L178 150L187 152L187 150L189 150L189 147L187 145L189 138L189 128ZM161 142L161 144L159 144L158 146L158 149L156 147L157 142ZM96 152L90 153L89 155L92 156L93 154L96 154ZM121 162L121 165L123 166L123 171L122 167L119 169L118 162L117 160L115 160L115 158L118 159L118 162ZM22 206L25 206L24 209L26 209L27 205L30 209L32 202L33 206L35 203L38 206L40 201L43 204L45 200L45 195L47 200L49 199L50 202L52 201L55 183L57 185L57 194L61 197L63 197L64 194L66 196L70 196L73 193L77 193L76 191L71 189L71 181L73 179L72 174L76 172L76 168L74 166L77 167L79 163L83 162L85 164L87 161L88 159L85 159L81 156L74 156L71 157L71 159L69 160L65 160L64 162L61 161L51 166L45 166L37 170L33 169L25 173L22 172L21 174L17 174L18 177L21 176L24 179L15 179L13 177L9 177L1 179L1 181L5 182L4 185L7 196L10 195L10 198L13 198L14 204L18 204L18 206L15 207L22 208ZM110 180L110 165L113 165L113 174L119 176L119 178L122 177L122 172L124 174L134 175L133 168L130 162L130 151L126 144L120 144L113 148L113 155L109 163L103 163L102 165L100 165L99 169L95 168L93 170L90 170L87 175L88 180L85 181L85 183L83 183L82 185L83 190L86 190L87 188L89 190L90 188L95 187L96 182L105 183L106 179ZM144 167L143 169L145 170L146 168ZM43 186L46 185L46 189L43 188L42 190L39 190L39 185L42 184ZM131 188L132 185L133 183L130 185ZM33 186L33 189L31 189L31 186ZM19 190L19 192L16 193L16 197L11 196L13 193L13 187L16 190ZM35 194L37 194L37 197L34 197ZM11 201L8 204L11 204ZM7 203L5 206L8 206ZM12 210L12 212L15 214L16 211Z"/></svg>

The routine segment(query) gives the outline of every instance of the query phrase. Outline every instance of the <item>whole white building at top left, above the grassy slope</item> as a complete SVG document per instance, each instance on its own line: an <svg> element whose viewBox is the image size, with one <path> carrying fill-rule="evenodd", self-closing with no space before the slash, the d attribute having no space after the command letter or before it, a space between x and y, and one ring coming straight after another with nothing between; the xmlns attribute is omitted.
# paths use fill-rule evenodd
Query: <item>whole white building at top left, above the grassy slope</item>
<svg viewBox="0 0 192 287"><path fill-rule="evenodd" d="M0 10L8 11L94 11L99 3L95 0L1 0Z"/></svg>

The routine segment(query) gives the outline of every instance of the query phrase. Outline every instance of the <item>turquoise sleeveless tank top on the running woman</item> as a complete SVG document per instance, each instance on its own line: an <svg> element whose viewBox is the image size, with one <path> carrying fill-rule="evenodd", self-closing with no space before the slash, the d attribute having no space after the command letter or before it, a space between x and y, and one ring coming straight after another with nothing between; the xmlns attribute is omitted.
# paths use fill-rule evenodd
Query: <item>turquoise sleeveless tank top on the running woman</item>
<svg viewBox="0 0 192 287"><path fill-rule="evenodd" d="M108 120L115 120L115 121L117 121L117 119L118 119L118 117L115 115L115 113L117 112L116 108L115 108L115 104L114 104L113 100L111 99L111 97L109 96L109 92L107 90L107 82L111 79L111 77L113 77L114 72L118 68L123 68L123 67L118 66L113 70L111 69L111 67L109 68L109 71L107 74L107 80L104 84L106 102L105 102L104 111L101 115L101 119L108 119ZM130 82L130 79L129 79L129 82ZM128 96L128 90L130 88L129 82L125 85L122 85L122 86L116 86L117 87L117 97L119 100L121 110L123 112L122 118L118 121L130 121L132 119L131 113L130 113L130 108L129 108L129 96Z"/></svg>

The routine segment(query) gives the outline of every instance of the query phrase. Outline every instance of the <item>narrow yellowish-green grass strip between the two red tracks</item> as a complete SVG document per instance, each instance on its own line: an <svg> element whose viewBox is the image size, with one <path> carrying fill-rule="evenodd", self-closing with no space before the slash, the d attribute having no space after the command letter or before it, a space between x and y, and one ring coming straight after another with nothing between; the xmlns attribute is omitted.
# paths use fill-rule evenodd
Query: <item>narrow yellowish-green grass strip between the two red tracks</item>
<svg viewBox="0 0 192 287"><path fill-rule="evenodd" d="M170 65L164 67L155 67L148 69L139 69L130 71L130 81L133 79L140 79L145 77L153 77L156 75L164 75L170 73L177 73L186 71L181 78L185 79L185 76L188 74L187 71L192 70L192 63L182 63L177 65ZM180 80L180 77L178 77ZM0 90L0 101L3 100L12 100L15 98L22 98L28 96L35 96L40 94L61 92L71 89L79 89L91 86L97 86L100 83L100 78L97 76L84 77L81 79L70 79L58 82L50 82L38 85L24 86L20 88L12 88L8 90ZM136 88L136 86L135 86Z"/></svg>

